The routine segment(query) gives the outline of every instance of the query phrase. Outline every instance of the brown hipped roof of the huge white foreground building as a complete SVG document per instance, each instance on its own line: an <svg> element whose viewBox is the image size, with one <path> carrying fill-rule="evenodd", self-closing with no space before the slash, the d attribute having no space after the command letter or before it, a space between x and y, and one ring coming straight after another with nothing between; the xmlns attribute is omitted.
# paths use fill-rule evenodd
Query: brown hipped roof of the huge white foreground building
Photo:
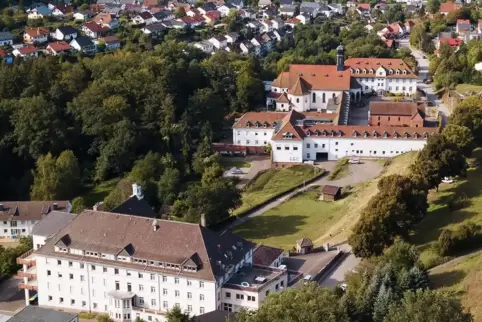
<svg viewBox="0 0 482 322"><path fill-rule="evenodd" d="M117 266L163 273L172 270L173 274L209 281L223 277L230 265L238 264L253 248L251 242L229 231L219 234L199 224L93 210L82 211L35 254L112 265L112 260L100 256L55 252L55 245L104 254L126 250L134 259L146 262L116 261ZM180 265L181 270L162 267L159 262ZM197 271L185 269L187 263L196 265Z"/></svg>

